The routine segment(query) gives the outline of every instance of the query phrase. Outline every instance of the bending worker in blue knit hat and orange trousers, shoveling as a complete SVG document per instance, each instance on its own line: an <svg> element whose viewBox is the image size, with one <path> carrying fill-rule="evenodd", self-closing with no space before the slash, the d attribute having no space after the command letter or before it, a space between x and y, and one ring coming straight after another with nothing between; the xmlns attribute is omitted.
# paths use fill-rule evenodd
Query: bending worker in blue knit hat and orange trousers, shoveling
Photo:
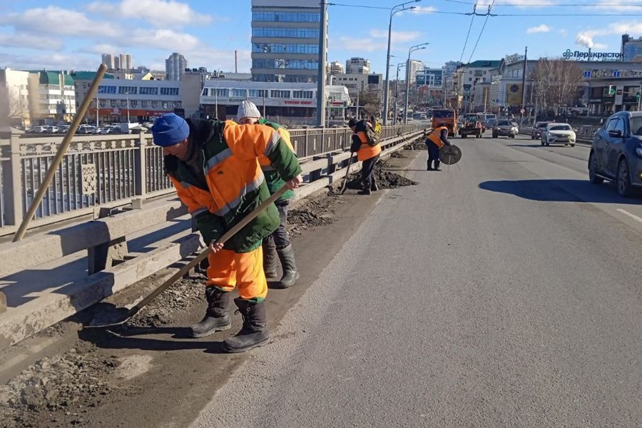
<svg viewBox="0 0 642 428"><path fill-rule="evenodd" d="M297 159L267 126L185 121L166 113L154 121L152 135L156 146L163 148L165 171L178 197L212 251L205 285L208 306L203 320L191 326L192 336L230 329L230 291L238 285L234 302L243 316L243 328L223 341L223 350L243 352L265 345L270 337L261 243L279 225L275 205L270 204L225 245L217 240L270 197L257 162L260 154L267 155L290 189L302 182Z"/></svg>

